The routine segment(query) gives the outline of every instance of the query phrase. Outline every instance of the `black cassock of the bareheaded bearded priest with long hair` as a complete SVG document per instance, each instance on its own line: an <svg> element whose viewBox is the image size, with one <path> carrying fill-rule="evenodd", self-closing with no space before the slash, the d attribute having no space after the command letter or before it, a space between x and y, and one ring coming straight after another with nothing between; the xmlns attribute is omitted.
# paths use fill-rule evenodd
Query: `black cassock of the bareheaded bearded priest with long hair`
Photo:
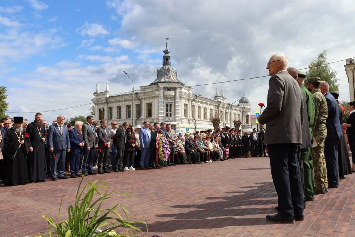
<svg viewBox="0 0 355 237"><path fill-rule="evenodd" d="M26 128L26 132L30 136L30 146L33 148L33 152L27 154L29 180L30 182L43 181L47 173L45 144L44 142L41 143L43 137L47 139L45 127L41 125L40 128L37 128L35 123L31 122Z"/></svg>

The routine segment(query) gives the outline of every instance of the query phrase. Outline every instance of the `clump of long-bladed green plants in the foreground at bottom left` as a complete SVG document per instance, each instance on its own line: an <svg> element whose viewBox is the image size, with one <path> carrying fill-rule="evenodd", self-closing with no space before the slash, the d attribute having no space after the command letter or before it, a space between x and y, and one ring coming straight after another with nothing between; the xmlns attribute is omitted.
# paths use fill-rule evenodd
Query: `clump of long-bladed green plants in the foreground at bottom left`
<svg viewBox="0 0 355 237"><path fill-rule="evenodd" d="M51 226L54 227L58 237L131 237L136 236L136 232L142 234L136 224L144 224L148 229L144 222L131 222L128 211L121 204L117 204L111 209L101 209L103 201L111 198L107 193L108 185L102 180L95 180L93 183L85 184L80 190L83 180L84 177L82 177L76 192L75 204L68 207L67 220L60 220L60 207L58 224L52 218L42 216L48 221L50 237L52 237ZM97 184L98 182L101 184ZM103 193L100 192L102 189L104 189ZM95 195L99 197L94 199ZM116 208L123 211L126 220L116 211ZM116 228L125 228L126 234L112 232ZM102 231L99 232L98 229ZM144 236L147 235L148 233Z"/></svg>

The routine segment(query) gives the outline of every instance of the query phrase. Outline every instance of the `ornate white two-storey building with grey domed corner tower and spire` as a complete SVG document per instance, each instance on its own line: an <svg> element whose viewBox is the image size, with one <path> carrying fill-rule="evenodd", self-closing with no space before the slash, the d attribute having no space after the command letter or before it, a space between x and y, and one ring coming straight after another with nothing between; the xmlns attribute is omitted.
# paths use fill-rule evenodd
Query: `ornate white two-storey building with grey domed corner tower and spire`
<svg viewBox="0 0 355 237"><path fill-rule="evenodd" d="M219 115L220 127L234 127L233 120L242 122L243 130L251 132L250 103L243 96L238 105L227 103L223 90L218 89L214 99L195 95L192 87L185 86L178 80L177 71L170 65L170 55L166 45L163 56L163 66L157 70L156 79L149 85L141 86L134 92L134 108L132 108L132 93L110 96L108 82L106 90L96 92L92 102L95 106L96 120L107 119L122 124L132 123L142 125L143 121L169 123L176 132L190 132L212 129L211 118ZM132 111L133 110L133 111Z"/></svg>

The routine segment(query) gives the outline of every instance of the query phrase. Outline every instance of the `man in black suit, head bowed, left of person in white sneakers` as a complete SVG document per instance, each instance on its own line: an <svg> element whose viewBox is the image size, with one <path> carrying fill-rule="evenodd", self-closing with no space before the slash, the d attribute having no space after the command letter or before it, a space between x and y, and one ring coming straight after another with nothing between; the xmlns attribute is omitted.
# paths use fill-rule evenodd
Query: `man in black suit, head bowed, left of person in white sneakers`
<svg viewBox="0 0 355 237"><path fill-rule="evenodd" d="M126 143L125 130L127 129L127 127L128 123L124 122L122 126L118 127L116 134L113 138L113 144L117 149L117 156L115 157L112 163L112 169L114 170L114 172L124 172L122 160Z"/></svg>

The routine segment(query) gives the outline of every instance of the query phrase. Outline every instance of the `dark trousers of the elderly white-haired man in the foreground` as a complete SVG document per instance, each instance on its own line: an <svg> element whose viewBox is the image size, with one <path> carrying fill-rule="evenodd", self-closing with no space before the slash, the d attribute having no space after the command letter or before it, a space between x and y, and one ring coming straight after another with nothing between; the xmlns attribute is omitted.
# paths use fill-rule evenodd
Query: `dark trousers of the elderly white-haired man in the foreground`
<svg viewBox="0 0 355 237"><path fill-rule="evenodd" d="M271 176L278 194L278 211L286 217L300 216L304 208L297 147L293 143L268 145Z"/></svg>

